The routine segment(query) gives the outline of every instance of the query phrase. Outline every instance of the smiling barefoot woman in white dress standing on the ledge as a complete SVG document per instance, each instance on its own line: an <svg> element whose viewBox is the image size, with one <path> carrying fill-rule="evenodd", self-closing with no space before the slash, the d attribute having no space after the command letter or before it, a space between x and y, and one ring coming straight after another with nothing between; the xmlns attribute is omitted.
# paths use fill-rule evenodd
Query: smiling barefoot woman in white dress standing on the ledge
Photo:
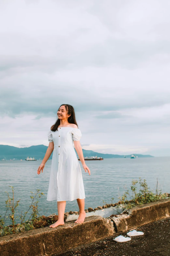
<svg viewBox="0 0 170 256"><path fill-rule="evenodd" d="M76 223L82 223L86 216L84 211L84 185L75 149L85 172L88 171L90 175L90 169L85 164L80 145L82 134L78 129L74 108L71 105L63 104L58 109L57 115L58 119L56 123L51 126L48 133L49 146L47 152L37 170L37 174L40 174L41 170L43 172L45 163L54 150L47 200L57 200L58 220L50 225L50 228L64 225L66 201L77 199L79 217L75 221Z"/></svg>

